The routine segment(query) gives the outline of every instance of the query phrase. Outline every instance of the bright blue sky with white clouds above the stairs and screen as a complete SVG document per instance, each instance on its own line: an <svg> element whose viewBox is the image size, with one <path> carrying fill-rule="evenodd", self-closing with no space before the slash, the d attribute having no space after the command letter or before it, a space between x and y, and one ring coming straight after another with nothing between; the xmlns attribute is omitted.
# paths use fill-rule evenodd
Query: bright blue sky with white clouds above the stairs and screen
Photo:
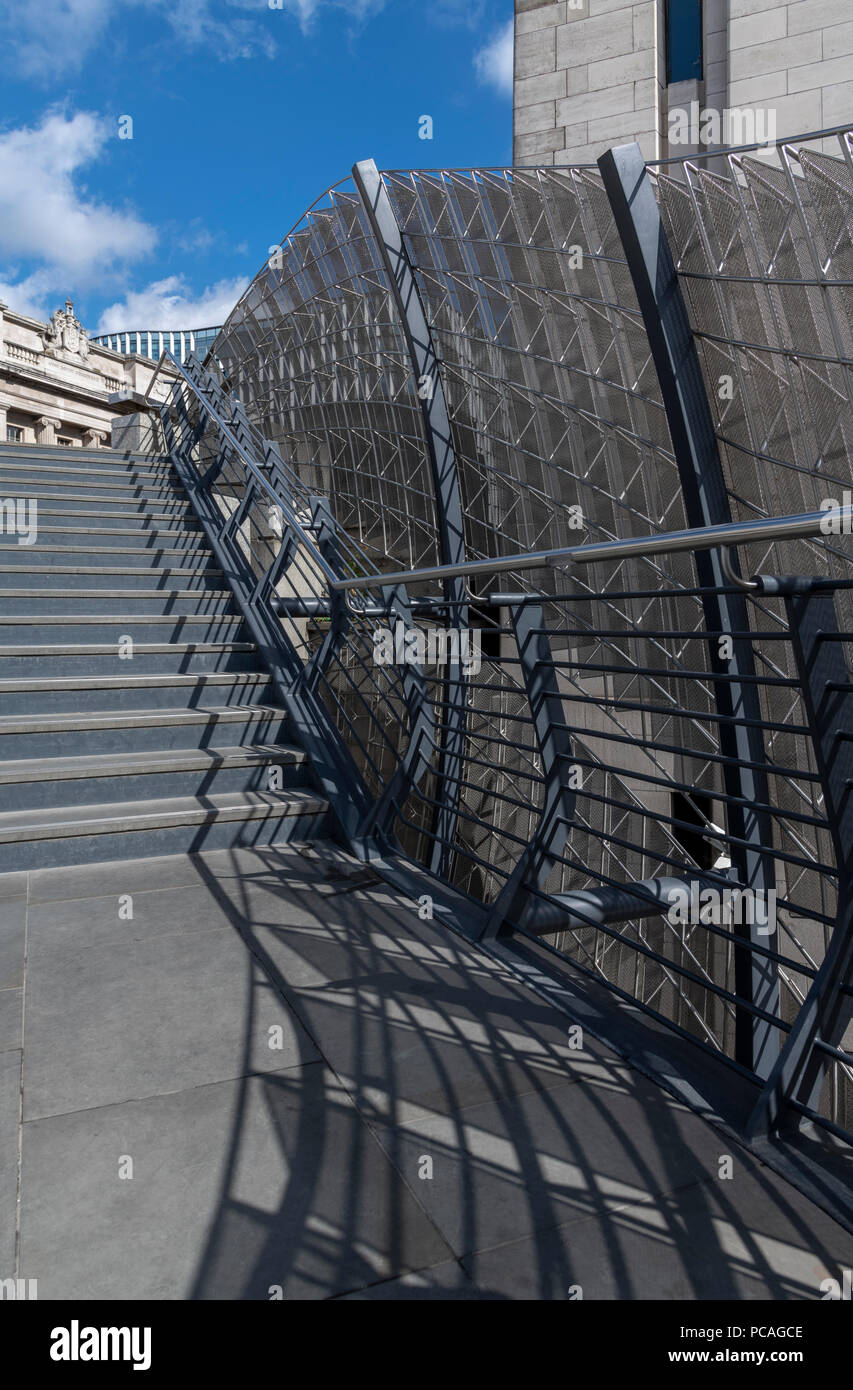
<svg viewBox="0 0 853 1390"><path fill-rule="evenodd" d="M0 299L47 318L71 295L90 332L221 322L356 160L508 164L511 15L513 0L7 0Z"/></svg>

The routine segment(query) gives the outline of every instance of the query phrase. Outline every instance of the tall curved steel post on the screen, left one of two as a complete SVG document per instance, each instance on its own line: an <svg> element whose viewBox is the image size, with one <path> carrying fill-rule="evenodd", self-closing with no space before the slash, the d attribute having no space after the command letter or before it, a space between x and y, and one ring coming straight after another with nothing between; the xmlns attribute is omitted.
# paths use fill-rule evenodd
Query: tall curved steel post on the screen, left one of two
<svg viewBox="0 0 853 1390"><path fill-rule="evenodd" d="M465 559L465 535L458 468L439 360L426 313L403 231L374 160L361 160L356 164L353 179L376 239L411 361L432 471L440 562L442 564L461 564ZM464 580L447 580L445 598L447 600L447 626L456 627L458 631L467 628L468 607ZM429 867L433 873L449 877L465 752L467 691L461 662L447 663L443 685L446 706L440 735L439 790L435 798L438 802L433 821L435 840Z"/></svg>

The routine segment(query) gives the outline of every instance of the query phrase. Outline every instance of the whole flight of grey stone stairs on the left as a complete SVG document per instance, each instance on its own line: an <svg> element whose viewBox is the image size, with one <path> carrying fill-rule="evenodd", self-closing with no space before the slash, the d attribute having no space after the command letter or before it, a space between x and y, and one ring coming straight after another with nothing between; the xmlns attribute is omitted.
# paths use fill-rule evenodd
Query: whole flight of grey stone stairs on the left
<svg viewBox="0 0 853 1390"><path fill-rule="evenodd" d="M326 833L167 459L0 446L0 873Z"/></svg>

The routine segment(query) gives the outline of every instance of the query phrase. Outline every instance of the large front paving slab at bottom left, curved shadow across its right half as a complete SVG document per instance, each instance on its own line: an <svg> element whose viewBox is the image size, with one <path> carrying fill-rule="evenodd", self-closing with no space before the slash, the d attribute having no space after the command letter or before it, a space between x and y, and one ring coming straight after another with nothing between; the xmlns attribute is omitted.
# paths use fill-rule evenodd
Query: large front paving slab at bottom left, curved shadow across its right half
<svg viewBox="0 0 853 1390"><path fill-rule="evenodd" d="M40 1298L325 1298L450 1258L318 1063L25 1123L24 1175Z"/></svg>

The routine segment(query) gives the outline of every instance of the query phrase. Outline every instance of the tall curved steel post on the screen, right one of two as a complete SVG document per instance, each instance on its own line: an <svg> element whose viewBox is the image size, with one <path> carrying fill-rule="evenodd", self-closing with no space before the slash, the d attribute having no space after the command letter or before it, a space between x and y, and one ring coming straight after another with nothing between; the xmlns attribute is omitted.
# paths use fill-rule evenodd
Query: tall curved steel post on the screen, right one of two
<svg viewBox="0 0 853 1390"><path fill-rule="evenodd" d="M654 370L660 382L672 450L681 477L685 512L690 527L717 525L731 521L725 478L717 448L711 407L704 389L702 367L690 329L686 306L678 282L678 272L661 221L654 189L639 145L621 145L599 158L615 227L625 252ZM745 632L749 612L740 594L722 592L728 585L718 550L696 555L696 573L702 588L715 589L703 598L704 620L713 632ZM732 659L722 663L715 644L711 644L711 671L721 677L753 677L752 645L735 641ZM725 790L740 798L729 808L729 830L749 848L732 849L732 865L739 872L743 887L767 892L775 884L771 860L772 830L770 817L757 812L756 805L767 805L767 776L764 739L757 726L761 709L757 687L746 680L715 680L714 692L721 714L743 719L743 723L721 724L721 752ZM749 764L754 766L749 766ZM736 929L743 940L735 948L735 987L739 997L764 1012L778 1016L778 966L750 947L759 941L757 926ZM735 1023L735 1056L760 1077L770 1076L778 1055L777 1029L739 1009Z"/></svg>

